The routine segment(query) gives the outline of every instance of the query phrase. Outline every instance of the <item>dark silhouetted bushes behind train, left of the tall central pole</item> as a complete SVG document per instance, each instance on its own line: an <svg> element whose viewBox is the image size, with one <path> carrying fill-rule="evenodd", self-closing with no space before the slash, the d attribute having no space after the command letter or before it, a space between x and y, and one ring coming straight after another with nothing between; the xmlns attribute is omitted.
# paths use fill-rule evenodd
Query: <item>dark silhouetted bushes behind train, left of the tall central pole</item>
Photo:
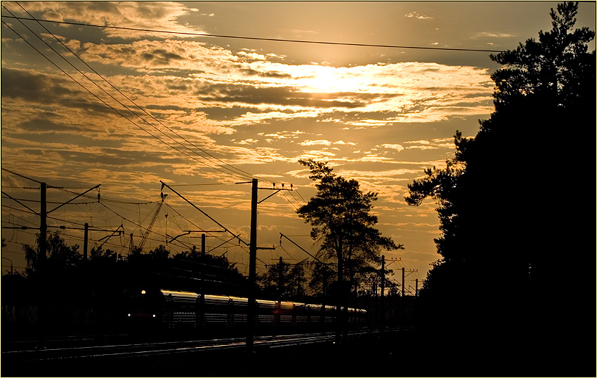
<svg viewBox="0 0 597 378"><path fill-rule="evenodd" d="M246 295L247 278L225 256L202 255L195 249L170 256L168 248L159 245L147 252L134 248L126 256L91 248L85 260L79 245L66 245L58 231L48 234L46 245L43 269L39 269L38 248L23 246L27 269L22 276L32 291L39 290L43 282L48 292L68 288L75 298L103 297L113 302L128 288Z"/></svg>

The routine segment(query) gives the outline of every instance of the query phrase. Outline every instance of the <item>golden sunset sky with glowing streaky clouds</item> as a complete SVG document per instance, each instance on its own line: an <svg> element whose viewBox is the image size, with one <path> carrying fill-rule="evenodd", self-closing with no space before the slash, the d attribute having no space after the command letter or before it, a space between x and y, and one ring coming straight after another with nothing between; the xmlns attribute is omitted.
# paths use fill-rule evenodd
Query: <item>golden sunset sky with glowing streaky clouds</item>
<svg viewBox="0 0 597 378"><path fill-rule="evenodd" d="M439 257L433 238L440 231L433 201L418 208L405 203L407 184L424 168L445 166L454 156L456 130L476 134L478 119L492 112L490 74L499 65L487 51L406 47L514 49L551 29L549 11L557 4L3 1L1 166L64 187L48 189L48 210L101 184L99 203L93 190L91 198L51 212L49 231L69 227L63 230L67 243L82 250L77 228L84 223L110 230L122 224L124 235L104 244L122 255L129 235L138 244L139 224L150 222L160 180L247 243L251 187L235 183L258 178L264 188L292 184L296 190L258 205L258 245L277 246L258 252L263 272L280 256L288 262L310 258L286 240L280 247L280 232L317 250L310 226L296 216L315 194L298 159L327 161L363 191L379 194L378 228L405 246L383 254L401 259L389 266L397 273L402 266L416 270L407 277L414 287L414 278L420 283ZM42 20L162 32L33 20L23 25L5 17L29 18L23 8ZM577 27L594 30L595 14L594 2L581 3ZM36 230L7 227L39 227L39 217L13 199L39 210L39 190L22 189L39 184L13 173L1 172L2 256L22 270L22 243L32 244ZM259 199L271 193L261 190ZM191 233L171 242L174 236L221 230L169 189L164 194L166 205L145 250L167 241L176 253L199 246L200 239ZM92 231L90 245L110 234ZM208 250L232 237L213 235ZM230 241L210 253L224 252L248 272L246 246ZM2 259L7 269L10 262Z"/></svg>

